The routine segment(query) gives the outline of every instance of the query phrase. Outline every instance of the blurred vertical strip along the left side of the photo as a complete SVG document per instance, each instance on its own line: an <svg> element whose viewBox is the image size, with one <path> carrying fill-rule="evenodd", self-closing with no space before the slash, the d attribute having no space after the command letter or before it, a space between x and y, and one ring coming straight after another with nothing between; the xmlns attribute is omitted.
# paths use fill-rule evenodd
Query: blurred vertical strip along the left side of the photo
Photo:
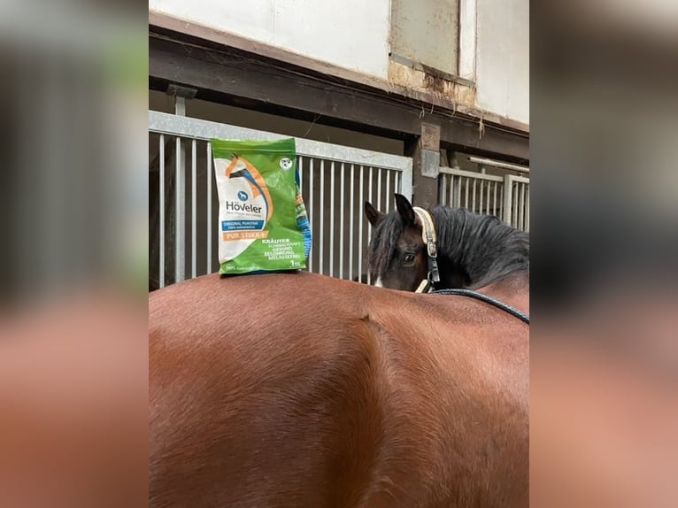
<svg viewBox="0 0 678 508"><path fill-rule="evenodd" d="M0 506L148 503L146 16L0 2Z"/></svg>

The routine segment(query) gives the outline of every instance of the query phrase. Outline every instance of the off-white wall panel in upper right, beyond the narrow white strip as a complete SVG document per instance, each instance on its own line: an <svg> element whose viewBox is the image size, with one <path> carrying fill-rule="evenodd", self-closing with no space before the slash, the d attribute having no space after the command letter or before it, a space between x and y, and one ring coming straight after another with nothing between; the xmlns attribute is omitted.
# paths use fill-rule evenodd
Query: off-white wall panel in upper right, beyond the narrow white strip
<svg viewBox="0 0 678 508"><path fill-rule="evenodd" d="M529 123L529 0L477 0L477 105Z"/></svg>

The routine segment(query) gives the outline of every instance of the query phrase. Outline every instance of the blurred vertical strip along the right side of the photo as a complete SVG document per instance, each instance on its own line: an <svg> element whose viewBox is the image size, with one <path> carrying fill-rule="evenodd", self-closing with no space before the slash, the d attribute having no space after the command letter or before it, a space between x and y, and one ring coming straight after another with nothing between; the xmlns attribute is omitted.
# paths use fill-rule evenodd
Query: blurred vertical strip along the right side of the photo
<svg viewBox="0 0 678 508"><path fill-rule="evenodd" d="M530 492L678 505L678 4L532 3Z"/></svg>

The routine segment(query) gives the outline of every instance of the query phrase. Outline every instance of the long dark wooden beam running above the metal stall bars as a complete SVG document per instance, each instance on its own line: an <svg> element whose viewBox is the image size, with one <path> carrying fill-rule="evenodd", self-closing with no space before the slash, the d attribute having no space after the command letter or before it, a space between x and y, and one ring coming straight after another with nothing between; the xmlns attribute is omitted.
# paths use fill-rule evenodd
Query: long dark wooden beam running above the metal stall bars
<svg viewBox="0 0 678 508"><path fill-rule="evenodd" d="M317 123L403 139L420 136L422 120L440 126L440 140L458 150L517 163L529 159L529 137L458 112L431 107L352 81L260 57L213 42L150 27L150 87L176 83L198 89L197 97L252 109L313 119Z"/></svg>

